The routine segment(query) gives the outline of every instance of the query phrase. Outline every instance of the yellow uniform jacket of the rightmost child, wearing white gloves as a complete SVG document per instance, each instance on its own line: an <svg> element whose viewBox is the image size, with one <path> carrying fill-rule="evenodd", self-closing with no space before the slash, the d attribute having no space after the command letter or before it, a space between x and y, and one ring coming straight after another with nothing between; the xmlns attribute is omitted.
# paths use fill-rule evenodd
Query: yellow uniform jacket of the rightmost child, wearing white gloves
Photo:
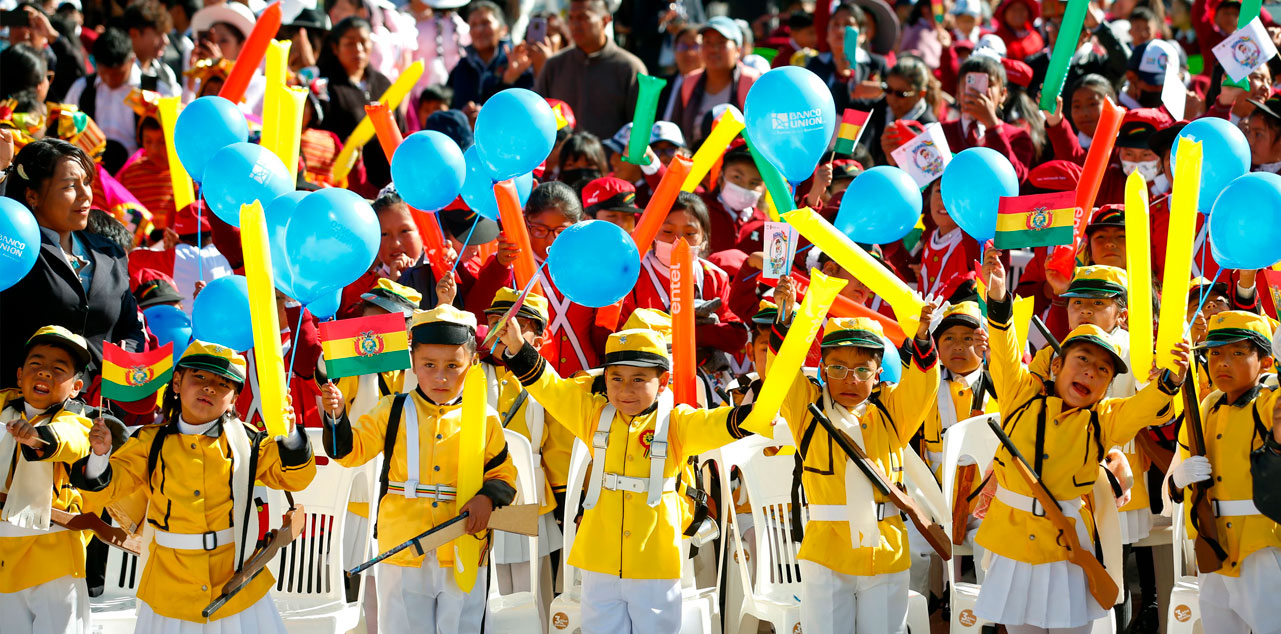
<svg viewBox="0 0 1281 634"><path fill-rule="evenodd" d="M1232 403L1227 402L1227 394L1217 391L1202 400L1202 435L1205 438L1205 457L1214 483L1209 494L1214 501L1254 498L1250 452L1262 447L1263 439L1272 433L1272 409L1276 407L1278 393L1281 392L1266 387L1254 387ZM1179 430L1179 455L1182 459L1190 456L1186 427ZM1189 538L1196 535L1191 525L1191 505L1184 505ZM1240 576L1245 557L1263 548L1281 548L1281 525L1267 516L1218 517L1216 524L1218 543L1227 551L1223 567L1218 570L1221 575Z"/></svg>

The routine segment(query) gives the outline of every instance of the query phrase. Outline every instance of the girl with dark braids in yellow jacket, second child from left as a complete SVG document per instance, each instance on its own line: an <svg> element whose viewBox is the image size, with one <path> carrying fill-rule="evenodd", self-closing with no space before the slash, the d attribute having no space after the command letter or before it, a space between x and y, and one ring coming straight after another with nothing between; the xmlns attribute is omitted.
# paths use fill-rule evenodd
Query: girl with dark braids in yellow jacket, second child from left
<svg viewBox="0 0 1281 634"><path fill-rule="evenodd" d="M173 369L161 414L111 453L101 423L90 432L92 455L77 462L73 482L95 508L146 491L146 521L154 528L138 584L140 633L284 631L272 602L270 573L257 575L209 619L201 610L254 553L249 532L255 480L302 491L315 476L315 459L301 428L272 438L236 416L245 386L245 357L215 343L193 341Z"/></svg>

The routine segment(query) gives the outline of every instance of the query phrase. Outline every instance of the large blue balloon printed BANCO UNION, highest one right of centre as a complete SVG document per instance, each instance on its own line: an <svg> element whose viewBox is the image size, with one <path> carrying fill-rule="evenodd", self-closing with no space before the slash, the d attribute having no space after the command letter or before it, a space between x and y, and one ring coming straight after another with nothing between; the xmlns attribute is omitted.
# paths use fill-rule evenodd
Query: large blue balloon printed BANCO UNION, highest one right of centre
<svg viewBox="0 0 1281 634"><path fill-rule="evenodd" d="M813 174L836 131L831 91L801 67L775 68L756 79L743 118L752 147L792 183Z"/></svg>

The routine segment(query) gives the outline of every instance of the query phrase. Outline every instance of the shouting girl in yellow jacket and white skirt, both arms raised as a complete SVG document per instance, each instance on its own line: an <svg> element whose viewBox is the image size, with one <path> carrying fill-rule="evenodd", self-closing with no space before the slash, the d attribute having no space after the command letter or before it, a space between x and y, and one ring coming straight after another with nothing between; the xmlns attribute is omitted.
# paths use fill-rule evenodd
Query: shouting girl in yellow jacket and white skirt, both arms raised
<svg viewBox="0 0 1281 634"><path fill-rule="evenodd" d="M991 378L1002 403L1002 428L1076 525L1081 546L1093 551L1094 517L1085 508L1108 447L1123 444L1144 427L1171 416L1171 397L1187 368L1187 345L1173 355L1176 373L1163 371L1138 394L1106 398L1112 380L1127 370L1112 334L1080 325L1062 342L1044 377L1020 361L1011 323L1000 254L984 255ZM994 459L997 494L979 528L977 543L990 551L990 566L975 606L984 620L1011 634L1085 633L1112 606L1100 606L1084 571L1067 561L1058 529L1038 511L1032 488L1017 475L1015 459L999 448ZM1113 503L1112 500L1095 503Z"/></svg>

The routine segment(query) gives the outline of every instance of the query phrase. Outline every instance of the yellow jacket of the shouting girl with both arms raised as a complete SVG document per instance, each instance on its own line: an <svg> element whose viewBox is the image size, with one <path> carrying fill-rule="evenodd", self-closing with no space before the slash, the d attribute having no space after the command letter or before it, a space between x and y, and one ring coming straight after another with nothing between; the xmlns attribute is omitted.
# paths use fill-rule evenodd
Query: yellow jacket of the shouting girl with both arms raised
<svg viewBox="0 0 1281 634"><path fill-rule="evenodd" d="M1081 498L1091 492L1108 447L1125 444L1140 429L1170 420L1171 396L1179 388L1158 380L1129 398L1103 398L1091 409L1067 409L1053 396L1053 384L1020 361L1011 310L1008 298L988 304L991 378L1000 402L1002 428L1032 461L1054 500ZM997 484L1030 497L1032 489L1012 469L1012 461L1004 447L997 450L993 459ZM1081 510L1081 517L1093 533L1094 519L1088 507ZM1058 529L1048 519L1012 508L998 497L979 528L977 542L997 555L1035 565L1067 560L1057 537Z"/></svg>

